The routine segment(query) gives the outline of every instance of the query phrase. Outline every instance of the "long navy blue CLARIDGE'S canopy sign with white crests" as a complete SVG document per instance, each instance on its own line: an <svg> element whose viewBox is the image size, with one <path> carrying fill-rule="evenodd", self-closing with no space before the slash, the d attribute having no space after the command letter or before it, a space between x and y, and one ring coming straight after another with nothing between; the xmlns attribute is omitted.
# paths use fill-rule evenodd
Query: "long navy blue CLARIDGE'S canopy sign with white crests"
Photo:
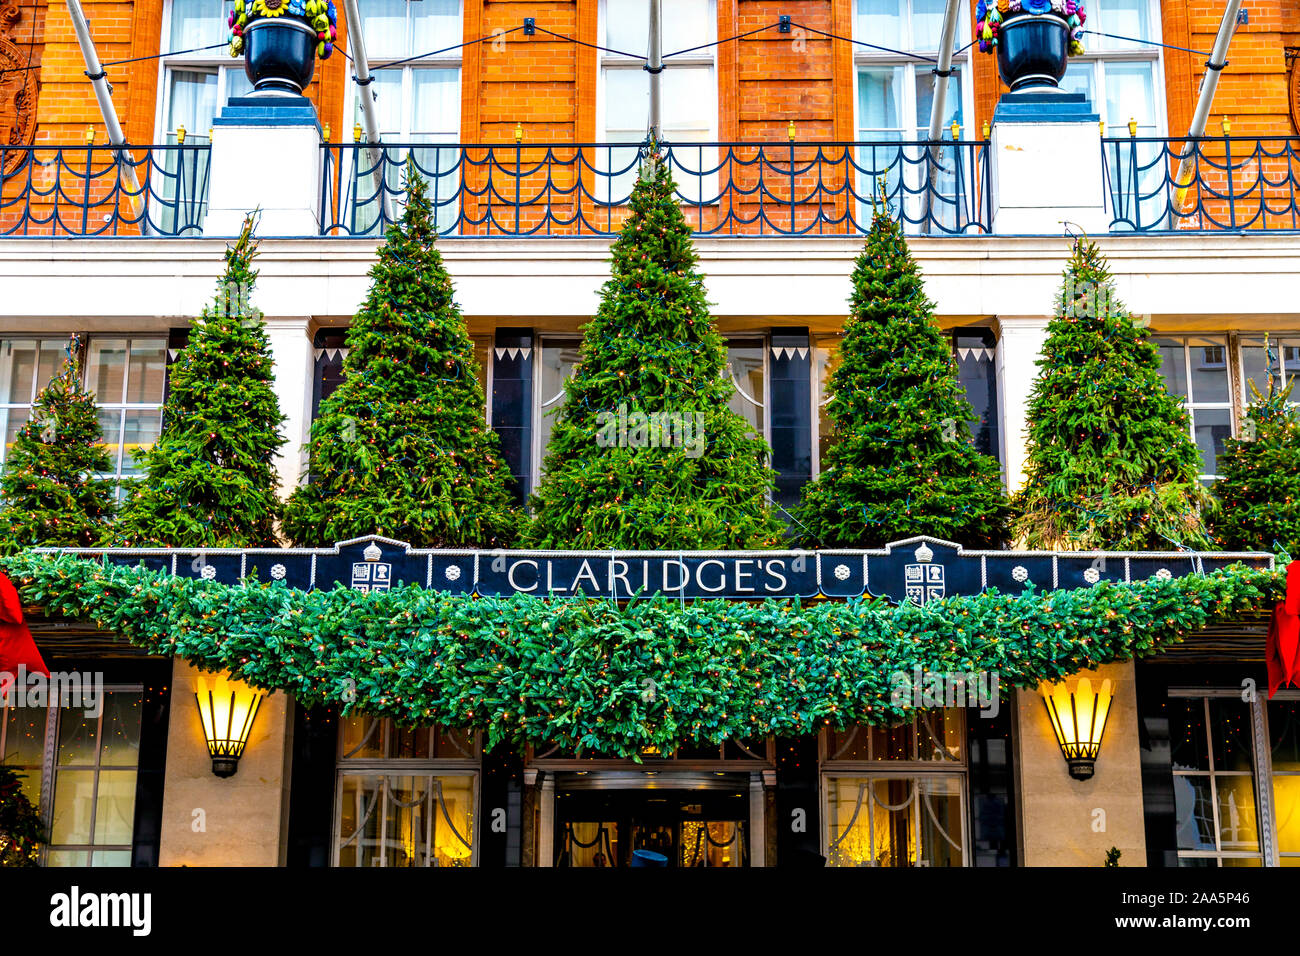
<svg viewBox="0 0 1300 956"><path fill-rule="evenodd" d="M1017 593L1204 574L1234 563L1271 568L1273 555L1223 551L968 551L913 537L875 551L468 551L416 550L364 537L333 548L259 550L42 549L146 564L238 584L256 578L309 591L372 592L399 584L452 594L628 598L859 597L924 605L985 588Z"/></svg>

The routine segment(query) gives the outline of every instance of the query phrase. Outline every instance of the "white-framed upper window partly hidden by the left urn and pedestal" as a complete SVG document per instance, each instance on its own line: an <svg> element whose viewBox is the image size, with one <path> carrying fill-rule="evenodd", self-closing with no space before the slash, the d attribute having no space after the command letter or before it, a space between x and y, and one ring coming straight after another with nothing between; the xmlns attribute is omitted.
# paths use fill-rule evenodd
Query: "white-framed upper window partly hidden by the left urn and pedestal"
<svg viewBox="0 0 1300 956"><path fill-rule="evenodd" d="M231 96L252 92L243 60L233 60L226 49L226 0L170 0L164 12L162 52L159 90L159 134L156 143L174 146L185 130L186 144L211 142L212 121ZM220 44L216 49L202 49ZM173 51L192 49L192 53ZM164 153L164 165L155 170L164 182L159 189L162 207L153 212L164 232L174 232L177 212L169 203L204 193L208 178L207 157ZM205 208L198 211L203 221Z"/></svg>

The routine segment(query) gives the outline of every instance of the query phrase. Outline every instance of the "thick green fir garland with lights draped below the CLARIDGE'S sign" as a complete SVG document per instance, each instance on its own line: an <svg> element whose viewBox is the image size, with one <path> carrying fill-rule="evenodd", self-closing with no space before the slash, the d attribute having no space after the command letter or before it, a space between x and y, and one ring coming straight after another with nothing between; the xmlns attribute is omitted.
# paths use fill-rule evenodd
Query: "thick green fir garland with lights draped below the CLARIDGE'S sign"
<svg viewBox="0 0 1300 956"><path fill-rule="evenodd" d="M926 607L850 602L464 597L394 588L222 585L144 567L21 554L25 602L307 705L481 728L489 745L645 747L889 724L892 675L997 671L1036 687L1156 652L1262 609L1280 576L1210 575L1076 591L989 591Z"/></svg>

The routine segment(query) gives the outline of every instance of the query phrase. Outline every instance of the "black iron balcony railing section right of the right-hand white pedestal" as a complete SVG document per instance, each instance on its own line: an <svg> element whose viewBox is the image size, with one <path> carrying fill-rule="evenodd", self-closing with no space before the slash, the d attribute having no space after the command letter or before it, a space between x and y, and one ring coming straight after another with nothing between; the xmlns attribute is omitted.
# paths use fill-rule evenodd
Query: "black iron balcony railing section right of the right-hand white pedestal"
<svg viewBox="0 0 1300 956"><path fill-rule="evenodd" d="M1102 139L1113 233L1300 229L1300 137Z"/></svg>

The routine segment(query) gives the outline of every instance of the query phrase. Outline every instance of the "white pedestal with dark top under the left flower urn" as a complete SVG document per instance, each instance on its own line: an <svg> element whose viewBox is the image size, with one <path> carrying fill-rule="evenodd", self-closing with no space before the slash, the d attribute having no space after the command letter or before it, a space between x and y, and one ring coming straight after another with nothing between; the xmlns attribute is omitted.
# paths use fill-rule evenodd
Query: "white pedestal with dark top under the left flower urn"
<svg viewBox="0 0 1300 956"><path fill-rule="evenodd" d="M321 127L306 96L235 96L212 121L204 235L320 235Z"/></svg>

